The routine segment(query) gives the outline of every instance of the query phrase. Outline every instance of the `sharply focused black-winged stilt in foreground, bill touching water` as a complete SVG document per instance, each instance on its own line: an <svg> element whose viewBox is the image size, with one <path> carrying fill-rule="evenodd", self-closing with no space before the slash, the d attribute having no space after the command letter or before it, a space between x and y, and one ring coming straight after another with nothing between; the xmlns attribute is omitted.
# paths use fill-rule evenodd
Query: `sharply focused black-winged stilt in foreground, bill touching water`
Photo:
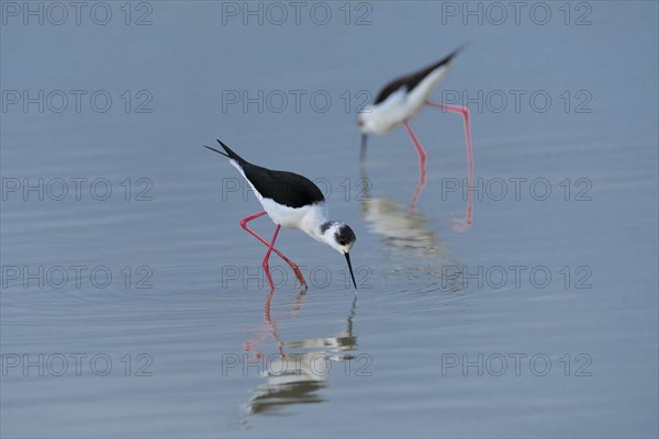
<svg viewBox="0 0 659 439"><path fill-rule="evenodd" d="M252 165L231 150L231 148L221 140L217 140L217 143L226 153L222 153L210 146L204 145L204 147L228 157L228 161L243 175L245 180L247 180L264 207L263 212L244 217L241 219L239 224L241 227L268 246L268 251L266 251L266 256L264 257L263 267L268 278L268 282L270 283L270 290L275 290L272 277L270 275L270 270L268 268L268 259L272 251L279 255L281 259L291 267L300 283L306 288L306 282L298 266L275 248L275 240L277 239L281 226L287 228L299 228L315 240L325 243L343 254L348 262L350 278L353 279L353 284L356 289L357 283L355 282L355 274L353 273L349 254L355 245L355 233L347 224L328 219L325 198L319 187L306 177L293 172L275 171ZM270 243L247 227L248 222L265 214L268 214L272 222L277 224Z"/></svg>

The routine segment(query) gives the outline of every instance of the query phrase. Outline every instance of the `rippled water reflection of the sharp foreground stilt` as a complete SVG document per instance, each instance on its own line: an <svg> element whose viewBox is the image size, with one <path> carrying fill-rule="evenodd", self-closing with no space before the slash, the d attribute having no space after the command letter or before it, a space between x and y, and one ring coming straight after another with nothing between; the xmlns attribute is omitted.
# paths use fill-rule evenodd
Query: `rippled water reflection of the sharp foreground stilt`
<svg viewBox="0 0 659 439"><path fill-rule="evenodd" d="M297 317L304 295L304 291L298 294L291 311L281 317L282 320ZM327 385L332 362L351 360L354 356L348 352L357 346L357 337L353 335L357 295L346 318L346 329L340 335L298 341L281 341L279 338L278 320L271 314L272 296L270 292L264 305L266 329L244 345L244 350L253 354L252 361L261 362L261 376L267 380L255 390L247 403L250 414L272 415L292 404L323 402L324 397L319 391ZM264 359L258 348L269 337L277 345L278 353Z"/></svg>

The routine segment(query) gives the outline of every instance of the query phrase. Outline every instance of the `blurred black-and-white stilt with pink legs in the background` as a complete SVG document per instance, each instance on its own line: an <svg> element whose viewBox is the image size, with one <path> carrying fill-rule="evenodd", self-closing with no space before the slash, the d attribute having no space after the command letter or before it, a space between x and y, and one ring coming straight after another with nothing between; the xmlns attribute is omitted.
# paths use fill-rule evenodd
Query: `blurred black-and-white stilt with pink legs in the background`
<svg viewBox="0 0 659 439"><path fill-rule="evenodd" d="M463 46L462 46L463 47ZM444 59L410 75L396 78L389 82L378 93L372 104L367 105L357 116L357 124L361 131L360 161L366 159L366 147L368 135L387 134L399 125L403 125L412 144L418 155L420 181L417 184L417 196L426 183L426 151L410 125L410 120L423 110L424 106L433 106L445 112L459 113L465 123L465 137L467 143L467 166L469 176L473 175L473 153L471 150L471 123L469 109L466 106L436 103L428 100L435 87L444 79L450 68L450 61L461 50L454 50ZM469 184L471 187L471 182ZM471 200L471 191L469 191ZM469 211L472 203L469 202ZM467 227L470 226L469 217Z"/></svg>

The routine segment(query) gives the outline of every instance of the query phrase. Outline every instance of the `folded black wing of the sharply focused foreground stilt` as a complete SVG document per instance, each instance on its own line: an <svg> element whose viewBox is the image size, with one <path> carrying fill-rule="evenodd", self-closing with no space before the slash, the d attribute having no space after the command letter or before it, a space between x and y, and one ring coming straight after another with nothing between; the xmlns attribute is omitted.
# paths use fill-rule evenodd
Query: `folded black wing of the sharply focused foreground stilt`
<svg viewBox="0 0 659 439"><path fill-rule="evenodd" d="M263 198L271 199L289 207L302 207L325 200L319 187L306 177L252 165L222 142L220 142L220 145L222 145L228 157L236 160L243 168L245 177Z"/></svg>

